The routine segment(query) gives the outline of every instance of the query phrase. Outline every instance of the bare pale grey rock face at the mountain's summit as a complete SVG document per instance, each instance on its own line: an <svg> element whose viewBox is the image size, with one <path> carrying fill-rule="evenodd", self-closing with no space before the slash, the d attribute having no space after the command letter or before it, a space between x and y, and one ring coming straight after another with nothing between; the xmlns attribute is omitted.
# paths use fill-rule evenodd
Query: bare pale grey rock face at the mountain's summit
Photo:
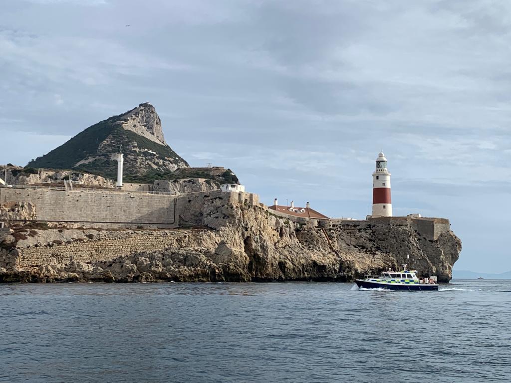
<svg viewBox="0 0 511 383"><path fill-rule="evenodd" d="M161 145L167 145L161 129L161 120L150 103L142 103L121 114L119 124L126 130L146 137Z"/></svg>

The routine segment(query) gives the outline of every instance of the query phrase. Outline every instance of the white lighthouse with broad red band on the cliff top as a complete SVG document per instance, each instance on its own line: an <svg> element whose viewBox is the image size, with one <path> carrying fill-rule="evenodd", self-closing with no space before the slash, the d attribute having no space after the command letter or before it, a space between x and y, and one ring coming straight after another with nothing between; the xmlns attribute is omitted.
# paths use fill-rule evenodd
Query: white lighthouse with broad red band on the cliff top
<svg viewBox="0 0 511 383"><path fill-rule="evenodd" d="M392 217L390 173L383 152L378 154L376 170L373 172L373 217Z"/></svg>

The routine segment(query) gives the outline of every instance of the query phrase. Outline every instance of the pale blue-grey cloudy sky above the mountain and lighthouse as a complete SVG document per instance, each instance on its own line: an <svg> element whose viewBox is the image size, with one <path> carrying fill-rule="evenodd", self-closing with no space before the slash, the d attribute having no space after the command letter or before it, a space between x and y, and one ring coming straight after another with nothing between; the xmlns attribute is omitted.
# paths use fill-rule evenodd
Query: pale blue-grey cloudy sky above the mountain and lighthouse
<svg viewBox="0 0 511 383"><path fill-rule="evenodd" d="M511 270L511 2L2 0L0 163L152 103L192 166L272 204L451 221L455 270Z"/></svg>

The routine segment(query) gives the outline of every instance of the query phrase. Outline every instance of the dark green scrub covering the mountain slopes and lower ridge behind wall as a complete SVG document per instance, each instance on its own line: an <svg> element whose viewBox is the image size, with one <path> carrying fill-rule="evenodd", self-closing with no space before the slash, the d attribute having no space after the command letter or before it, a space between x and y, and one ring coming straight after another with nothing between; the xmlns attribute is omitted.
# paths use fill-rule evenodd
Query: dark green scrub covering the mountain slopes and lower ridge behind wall
<svg viewBox="0 0 511 383"><path fill-rule="evenodd" d="M118 153L119 146L122 146L125 182L152 183L154 180L204 178L219 184L238 183L238 177L230 169L190 168L168 145L124 129L122 123L128 120L126 114L132 111L133 109L88 127L48 154L30 161L22 171L16 172L37 173L37 168L73 170L114 180L117 178L117 161L112 155ZM83 160L89 162L75 166ZM171 170L176 166L179 166L179 169Z"/></svg>

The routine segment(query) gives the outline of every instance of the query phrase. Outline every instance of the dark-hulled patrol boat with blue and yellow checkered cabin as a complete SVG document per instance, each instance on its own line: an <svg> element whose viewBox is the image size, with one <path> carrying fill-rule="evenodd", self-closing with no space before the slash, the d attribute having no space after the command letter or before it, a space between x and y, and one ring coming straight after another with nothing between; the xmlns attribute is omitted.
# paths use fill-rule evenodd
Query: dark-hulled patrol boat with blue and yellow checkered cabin
<svg viewBox="0 0 511 383"><path fill-rule="evenodd" d="M438 290L436 277L417 278L416 274L416 270L406 270L406 265L403 265L403 270L401 271L386 271L379 276L365 275L364 279L356 279L355 283L357 283L359 288L364 289Z"/></svg>

